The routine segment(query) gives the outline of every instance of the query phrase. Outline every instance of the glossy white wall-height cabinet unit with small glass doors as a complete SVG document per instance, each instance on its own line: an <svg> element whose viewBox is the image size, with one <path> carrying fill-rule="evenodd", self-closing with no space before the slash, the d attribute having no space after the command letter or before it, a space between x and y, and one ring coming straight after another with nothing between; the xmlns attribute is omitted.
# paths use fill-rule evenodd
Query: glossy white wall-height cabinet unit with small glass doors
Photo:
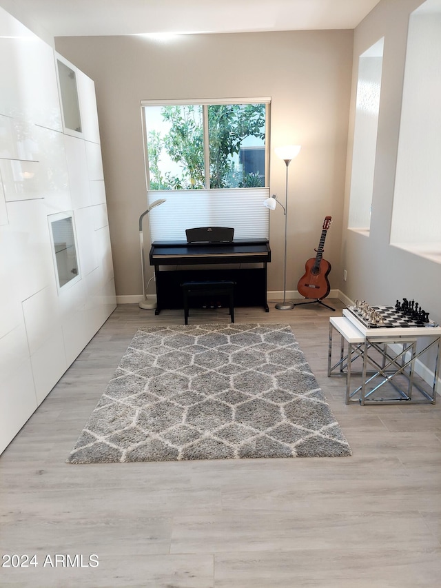
<svg viewBox="0 0 441 588"><path fill-rule="evenodd" d="M2 452L116 306L94 82L2 8L0 283Z"/></svg>

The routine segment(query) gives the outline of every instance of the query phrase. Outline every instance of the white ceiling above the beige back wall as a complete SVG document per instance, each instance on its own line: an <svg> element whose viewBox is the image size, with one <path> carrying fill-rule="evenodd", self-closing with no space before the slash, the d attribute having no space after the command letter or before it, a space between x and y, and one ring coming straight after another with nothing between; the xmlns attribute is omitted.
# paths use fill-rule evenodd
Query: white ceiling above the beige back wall
<svg viewBox="0 0 441 588"><path fill-rule="evenodd" d="M8 0L53 37L351 29L380 0ZM5 3L3 2L3 6Z"/></svg>

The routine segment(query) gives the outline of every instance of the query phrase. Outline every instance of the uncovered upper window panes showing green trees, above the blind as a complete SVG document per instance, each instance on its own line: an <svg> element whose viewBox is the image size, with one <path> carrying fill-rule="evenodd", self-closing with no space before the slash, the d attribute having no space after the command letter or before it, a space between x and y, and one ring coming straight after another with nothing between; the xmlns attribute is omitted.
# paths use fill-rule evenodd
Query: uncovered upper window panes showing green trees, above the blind
<svg viewBox="0 0 441 588"><path fill-rule="evenodd" d="M149 190L263 187L267 103L143 103Z"/></svg>

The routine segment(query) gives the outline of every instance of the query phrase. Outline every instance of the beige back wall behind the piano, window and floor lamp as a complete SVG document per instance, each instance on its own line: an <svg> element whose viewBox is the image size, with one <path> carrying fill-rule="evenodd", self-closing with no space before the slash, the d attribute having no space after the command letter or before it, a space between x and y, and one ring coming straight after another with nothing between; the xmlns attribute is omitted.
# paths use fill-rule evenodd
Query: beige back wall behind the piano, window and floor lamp
<svg viewBox="0 0 441 588"><path fill-rule="evenodd" d="M328 214L333 223L325 258L331 287L340 287L353 31L188 35L172 43L141 37L55 41L95 82L117 295L141 296L138 218L146 194L140 101L193 97L271 97L271 148L302 145L289 167L287 291L296 290L305 261L315 255ZM272 156L271 193L282 201L285 171ZM282 209L270 219L268 289L280 291Z"/></svg>

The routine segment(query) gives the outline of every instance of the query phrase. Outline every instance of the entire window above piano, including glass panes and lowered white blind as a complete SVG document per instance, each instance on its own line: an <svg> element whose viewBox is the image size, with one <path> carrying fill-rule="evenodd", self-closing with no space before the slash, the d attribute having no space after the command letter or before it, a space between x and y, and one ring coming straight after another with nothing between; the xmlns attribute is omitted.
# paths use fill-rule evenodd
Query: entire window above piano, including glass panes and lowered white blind
<svg viewBox="0 0 441 588"><path fill-rule="evenodd" d="M142 101L150 238L183 240L194 227L268 239L269 98Z"/></svg>

